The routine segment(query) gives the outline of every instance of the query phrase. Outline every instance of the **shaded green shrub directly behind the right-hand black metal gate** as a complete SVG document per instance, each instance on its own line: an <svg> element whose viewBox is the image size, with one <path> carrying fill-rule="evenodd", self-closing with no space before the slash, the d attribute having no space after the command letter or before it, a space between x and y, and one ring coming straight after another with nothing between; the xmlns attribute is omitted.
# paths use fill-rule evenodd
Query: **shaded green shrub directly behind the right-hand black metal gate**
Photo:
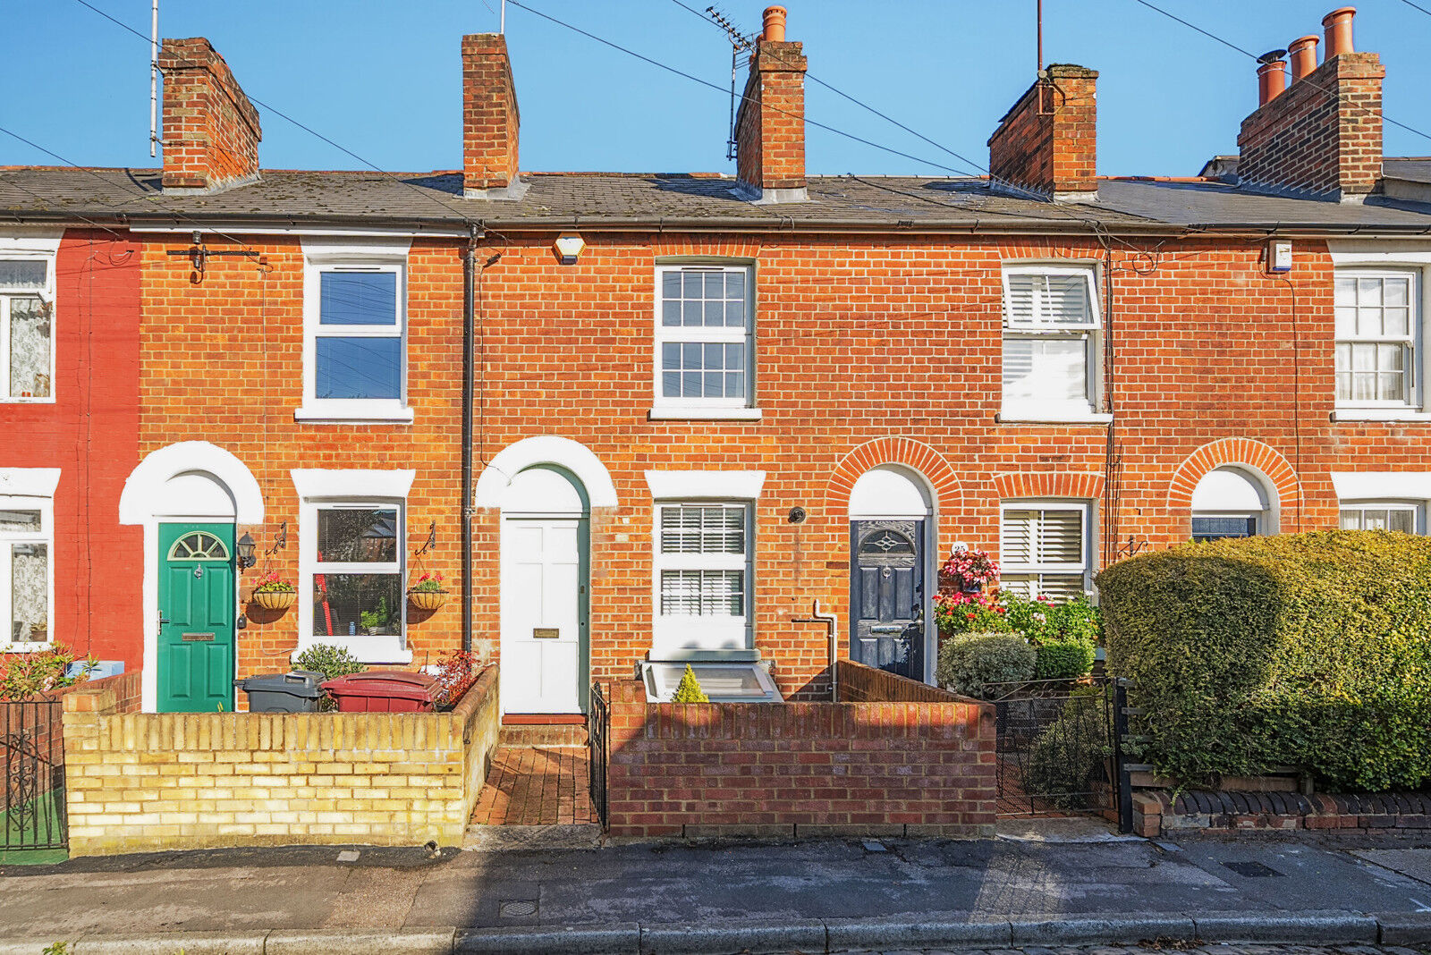
<svg viewBox="0 0 1431 955"><path fill-rule="evenodd" d="M1075 692L1033 741L1020 779L1026 793L1059 809L1088 805L1112 752L1105 692L1098 688Z"/></svg>

